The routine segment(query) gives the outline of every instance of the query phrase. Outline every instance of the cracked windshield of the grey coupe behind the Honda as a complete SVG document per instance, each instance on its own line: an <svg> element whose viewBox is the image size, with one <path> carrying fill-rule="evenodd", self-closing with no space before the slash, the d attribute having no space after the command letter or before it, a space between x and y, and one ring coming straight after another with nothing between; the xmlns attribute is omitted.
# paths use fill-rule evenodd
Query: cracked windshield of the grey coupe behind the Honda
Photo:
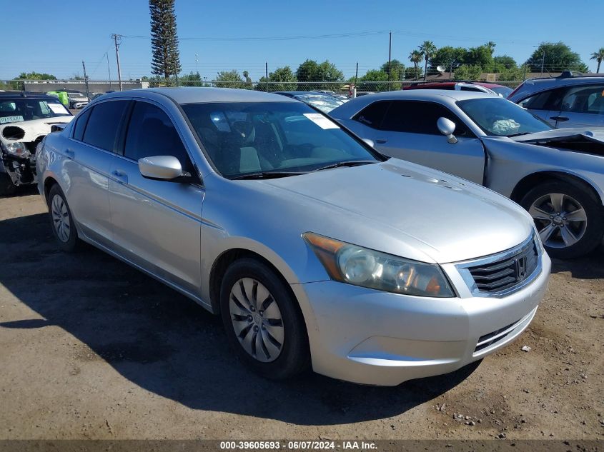
<svg viewBox="0 0 604 452"><path fill-rule="evenodd" d="M457 106L487 135L515 136L551 129L545 121L500 97L457 101Z"/></svg>

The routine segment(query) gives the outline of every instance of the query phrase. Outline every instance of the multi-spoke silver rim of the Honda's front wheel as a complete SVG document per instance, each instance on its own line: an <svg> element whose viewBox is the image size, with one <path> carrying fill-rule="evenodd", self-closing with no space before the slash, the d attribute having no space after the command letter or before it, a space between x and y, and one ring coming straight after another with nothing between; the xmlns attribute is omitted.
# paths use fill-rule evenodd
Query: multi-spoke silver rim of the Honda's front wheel
<svg viewBox="0 0 604 452"><path fill-rule="evenodd" d="M243 349L257 361L269 363L283 349L283 318L277 301L254 278L234 283L229 296L229 312L235 336Z"/></svg>

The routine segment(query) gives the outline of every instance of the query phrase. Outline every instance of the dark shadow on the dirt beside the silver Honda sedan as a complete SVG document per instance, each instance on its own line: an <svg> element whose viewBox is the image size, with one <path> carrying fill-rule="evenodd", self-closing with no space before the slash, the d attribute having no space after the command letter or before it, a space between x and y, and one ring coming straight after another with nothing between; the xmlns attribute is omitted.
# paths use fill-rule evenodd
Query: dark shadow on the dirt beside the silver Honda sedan
<svg viewBox="0 0 604 452"><path fill-rule="evenodd" d="M310 371L268 381L237 361L219 318L193 301L91 246L58 251L46 214L0 221L0 245L0 283L43 317L0 328L59 326L85 344L76 361L104 360L189 408L317 426L387 418L449 391L480 365L394 388Z"/></svg>

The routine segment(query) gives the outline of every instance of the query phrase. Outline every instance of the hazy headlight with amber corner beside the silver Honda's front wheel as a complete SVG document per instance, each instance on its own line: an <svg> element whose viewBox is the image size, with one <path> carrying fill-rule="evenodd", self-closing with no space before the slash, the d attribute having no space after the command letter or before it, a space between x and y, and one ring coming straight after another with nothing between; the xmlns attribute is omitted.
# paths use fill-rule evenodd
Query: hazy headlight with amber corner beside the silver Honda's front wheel
<svg viewBox="0 0 604 452"><path fill-rule="evenodd" d="M455 296L440 266L380 253L312 232L303 233L302 237L335 281L405 295Z"/></svg>

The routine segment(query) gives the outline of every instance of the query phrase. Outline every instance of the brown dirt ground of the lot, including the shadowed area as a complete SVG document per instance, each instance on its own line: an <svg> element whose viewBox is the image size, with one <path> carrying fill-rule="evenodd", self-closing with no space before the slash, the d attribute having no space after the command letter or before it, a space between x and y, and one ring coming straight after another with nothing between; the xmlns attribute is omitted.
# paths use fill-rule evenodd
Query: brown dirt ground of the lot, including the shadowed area
<svg viewBox="0 0 604 452"><path fill-rule="evenodd" d="M0 438L604 438L602 249L554 262L508 348L396 388L249 373L192 301L57 251L35 189L0 199L0 249Z"/></svg>

